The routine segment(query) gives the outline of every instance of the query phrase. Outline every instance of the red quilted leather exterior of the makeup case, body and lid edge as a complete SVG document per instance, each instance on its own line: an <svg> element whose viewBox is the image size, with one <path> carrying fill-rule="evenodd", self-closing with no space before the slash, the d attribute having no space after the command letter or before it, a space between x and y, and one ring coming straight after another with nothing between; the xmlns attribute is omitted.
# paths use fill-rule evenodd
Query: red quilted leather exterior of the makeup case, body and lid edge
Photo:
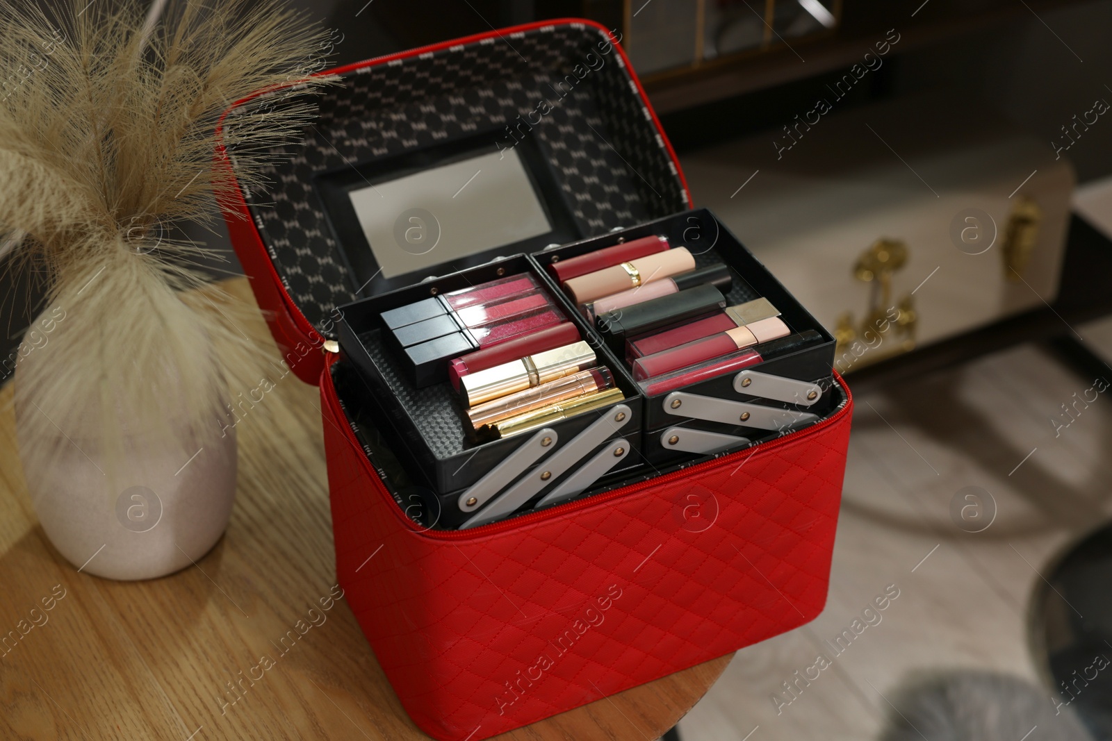
<svg viewBox="0 0 1112 741"><path fill-rule="evenodd" d="M524 37L545 33L533 47L538 54L546 43L555 48L560 33L590 34L592 43L607 38L588 21L550 21L340 71L393 70L438 53L481 61L495 49L505 53L499 40L520 49L533 43ZM617 117L624 141L664 152L656 174L638 169L653 180L655 187L645 181L653 193L677 204L645 216L688 208L675 156L615 49L622 71L607 72L614 76L607 84L636 107L610 111L610 124ZM367 76L361 84L367 78L385 79ZM336 108L326 110L326 122ZM329 157L322 147L306 157L312 156ZM281 188L305 187L297 180L281 178ZM339 582L403 705L428 734L485 739L762 641L822 611L852 411L841 379L833 392L844 401L832 413L755 448L471 530L427 530L401 511L340 403L329 311L344 297L321 291L344 284L344 277L328 260L289 263L291 252L308 259L315 244L328 246L309 232L296 244L274 238L297 227L294 210L282 216L284 199L279 192L277 216L252 212L239 193L222 206L287 362L320 385ZM280 222L267 241L266 218ZM607 218L584 216L595 233L613 226Z"/></svg>

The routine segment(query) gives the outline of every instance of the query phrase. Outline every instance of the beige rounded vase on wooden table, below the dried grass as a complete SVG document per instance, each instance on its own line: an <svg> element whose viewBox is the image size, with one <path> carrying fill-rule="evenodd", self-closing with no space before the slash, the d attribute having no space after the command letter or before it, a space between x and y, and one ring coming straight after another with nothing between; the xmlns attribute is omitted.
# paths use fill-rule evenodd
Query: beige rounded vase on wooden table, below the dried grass
<svg viewBox="0 0 1112 741"><path fill-rule="evenodd" d="M13 381L23 477L50 542L82 573L108 579L153 579L200 560L231 515L235 428L202 444L167 443L166 450L141 430L126 431L123 460L109 477L100 441L75 419L51 418L57 440L26 439L26 420L44 413L33 403L33 384L54 361L54 353L32 350Z"/></svg>

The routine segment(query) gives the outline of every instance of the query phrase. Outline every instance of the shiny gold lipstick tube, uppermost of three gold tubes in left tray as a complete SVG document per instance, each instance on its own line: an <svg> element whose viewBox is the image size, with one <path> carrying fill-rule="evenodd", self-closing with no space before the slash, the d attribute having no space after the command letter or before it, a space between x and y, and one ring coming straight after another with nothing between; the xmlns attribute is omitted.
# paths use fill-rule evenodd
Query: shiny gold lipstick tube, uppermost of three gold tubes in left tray
<svg viewBox="0 0 1112 741"><path fill-rule="evenodd" d="M595 351L586 342L565 344L520 360L469 373L459 379L459 397L467 408L532 389L548 381L586 370L595 364Z"/></svg>

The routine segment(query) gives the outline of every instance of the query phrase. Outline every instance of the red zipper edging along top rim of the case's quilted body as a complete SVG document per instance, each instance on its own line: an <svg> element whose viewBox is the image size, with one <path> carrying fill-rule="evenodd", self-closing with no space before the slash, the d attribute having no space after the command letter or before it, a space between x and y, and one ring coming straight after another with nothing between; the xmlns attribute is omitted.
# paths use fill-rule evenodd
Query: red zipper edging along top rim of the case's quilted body
<svg viewBox="0 0 1112 741"><path fill-rule="evenodd" d="M327 368L325 372L326 373L328 372ZM588 507L602 505L605 504L606 502L619 499L627 494L636 493L643 489L648 489L651 487L655 487L661 483L668 483L669 481L676 481L678 479L687 478L701 471L705 471L707 469L719 465L723 462L725 462L726 459L734 458L743 453L748 453L752 457L755 455L758 450L762 449L771 450L780 445L785 445L788 442L797 438L801 438L805 434L814 434L818 430L823 430L832 425L834 422L836 422L837 420L842 419L843 417L850 413L850 409L853 407L853 393L850 391L850 387L845 384L845 381L842 380L841 375L837 375L835 373L834 378L838 381L838 385L845 392L845 402L842 404L841 409L835 411L833 414L831 414L830 417L820 422L812 424L811 427L804 428L802 430L795 430L794 432L788 432L787 434L776 438L774 440L759 442L756 445L753 445L752 448L745 448L743 450L738 450L737 452L731 453L729 455L725 455L723 458L713 458L708 461L703 461L702 463L695 463L694 465L689 465L685 469L673 471L672 473L665 473L663 475L654 477L646 481L638 481L636 483L631 483L628 485L620 487L618 489L615 489L614 491L607 491L600 494L595 494L593 497L576 499L570 502L565 502L564 504L557 504L555 507L537 510L536 512L529 512L528 514L520 514L518 517L510 518L508 520L500 520L498 522L492 522L490 524L479 525L470 530L425 530L420 534L427 535L436 540L446 540L446 541L469 540L469 539L480 538L483 535L494 535L505 530L513 530L514 528L526 527L533 524L534 522L539 522L550 517L559 517L565 512L573 512L576 510L586 509ZM332 389L332 391L335 392L335 388ZM358 449L361 452L363 448L359 447L358 441L353 440L354 434L351 433L351 428L348 425L346 415L340 414L340 419L342 420L345 425L345 429L342 430L344 434L347 435L349 442L353 442L356 449ZM374 482L375 488L379 489L380 493L386 494L387 498L393 503L394 497L390 495L390 492L386 490L386 485L381 482L378 475L375 474L374 468L370 467L370 461L368 461L366 457L363 457L363 463L365 470L367 470L369 473L373 474L371 480ZM396 512L395 514L397 517L403 517L403 518L405 517L405 513L401 512Z"/></svg>

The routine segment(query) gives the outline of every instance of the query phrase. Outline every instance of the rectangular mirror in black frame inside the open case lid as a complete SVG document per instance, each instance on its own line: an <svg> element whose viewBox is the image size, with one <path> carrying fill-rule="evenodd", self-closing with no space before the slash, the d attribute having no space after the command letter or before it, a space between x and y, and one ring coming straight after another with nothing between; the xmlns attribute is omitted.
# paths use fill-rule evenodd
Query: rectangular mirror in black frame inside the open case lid
<svg viewBox="0 0 1112 741"><path fill-rule="evenodd" d="M492 147L497 134L317 176L317 194L363 294L582 236L536 140L499 152Z"/></svg>

